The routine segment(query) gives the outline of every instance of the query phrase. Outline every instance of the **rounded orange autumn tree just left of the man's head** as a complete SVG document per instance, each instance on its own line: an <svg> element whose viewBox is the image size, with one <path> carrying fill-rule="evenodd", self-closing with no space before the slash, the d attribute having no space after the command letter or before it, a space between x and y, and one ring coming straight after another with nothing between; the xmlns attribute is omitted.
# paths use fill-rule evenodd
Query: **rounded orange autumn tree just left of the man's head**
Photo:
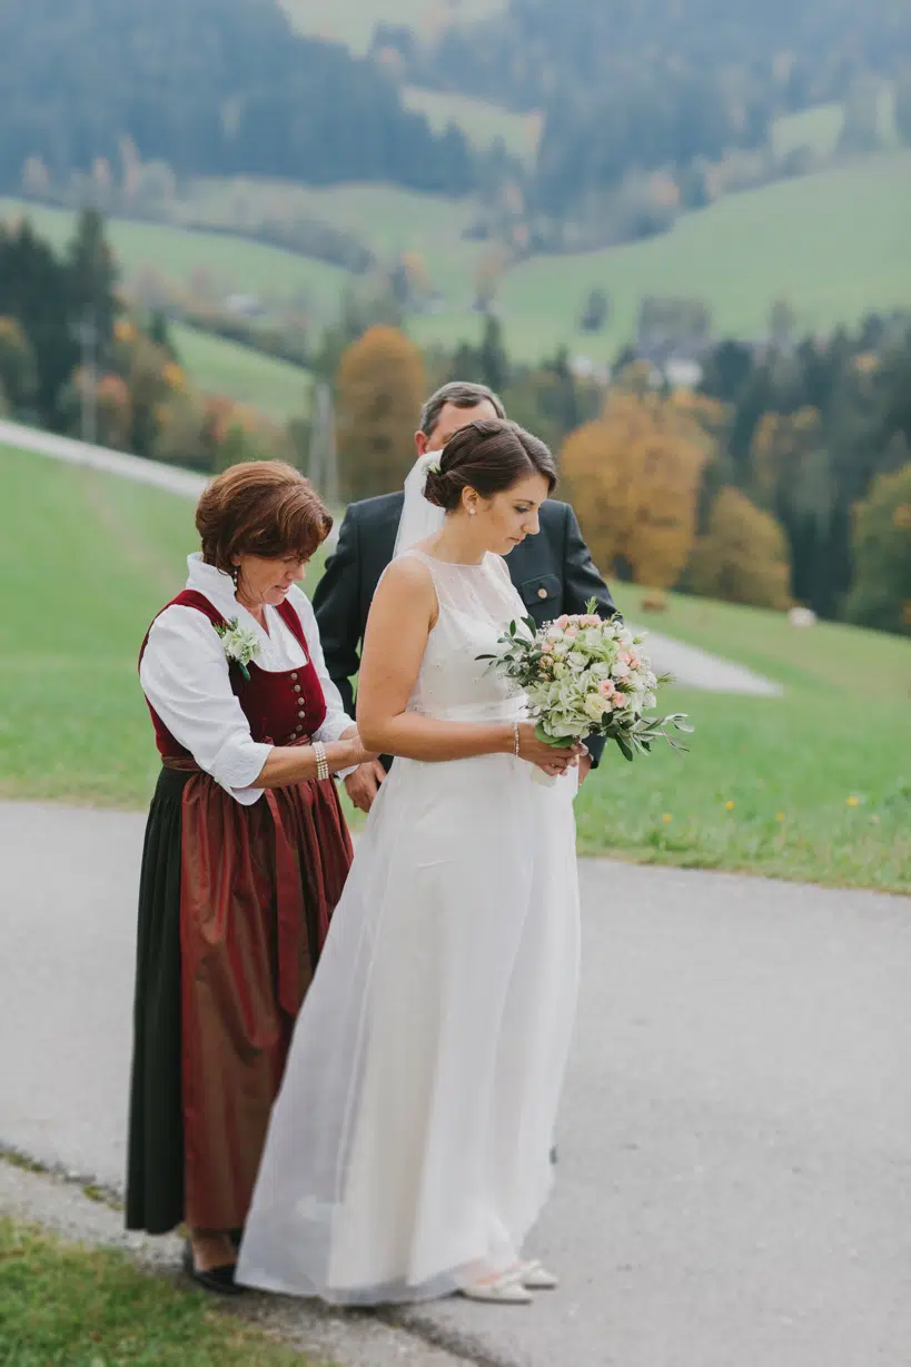
<svg viewBox="0 0 911 1367"><path fill-rule="evenodd" d="M343 353L336 375L342 495L369 498L401 488L425 398L421 354L398 328L372 327Z"/></svg>

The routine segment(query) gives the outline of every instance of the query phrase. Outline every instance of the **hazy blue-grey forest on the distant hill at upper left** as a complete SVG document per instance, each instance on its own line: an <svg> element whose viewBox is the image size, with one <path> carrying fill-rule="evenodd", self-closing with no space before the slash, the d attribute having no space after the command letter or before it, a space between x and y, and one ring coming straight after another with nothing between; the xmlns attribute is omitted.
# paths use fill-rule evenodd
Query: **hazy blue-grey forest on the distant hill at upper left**
<svg viewBox="0 0 911 1367"><path fill-rule="evenodd" d="M60 180L124 144L179 178L473 180L460 130L435 134L376 63L298 36L276 0L5 0L0 86L7 189L27 161Z"/></svg>

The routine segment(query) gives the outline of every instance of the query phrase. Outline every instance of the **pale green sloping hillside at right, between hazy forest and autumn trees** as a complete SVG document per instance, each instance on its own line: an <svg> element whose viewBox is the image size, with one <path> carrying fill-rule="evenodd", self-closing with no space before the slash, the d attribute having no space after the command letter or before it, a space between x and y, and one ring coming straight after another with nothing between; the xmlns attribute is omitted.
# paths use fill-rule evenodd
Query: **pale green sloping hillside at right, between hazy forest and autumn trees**
<svg viewBox="0 0 911 1367"><path fill-rule="evenodd" d="M910 231L911 152L885 153L729 195L647 242L535 257L505 278L501 313L510 350L528 358L558 342L610 358L633 336L646 294L703 299L721 334L763 335L780 297L800 328L829 328L911 305ZM603 332L581 335L577 319L594 286L607 290L613 313ZM450 310L417 321L414 332L451 342L479 328Z"/></svg>

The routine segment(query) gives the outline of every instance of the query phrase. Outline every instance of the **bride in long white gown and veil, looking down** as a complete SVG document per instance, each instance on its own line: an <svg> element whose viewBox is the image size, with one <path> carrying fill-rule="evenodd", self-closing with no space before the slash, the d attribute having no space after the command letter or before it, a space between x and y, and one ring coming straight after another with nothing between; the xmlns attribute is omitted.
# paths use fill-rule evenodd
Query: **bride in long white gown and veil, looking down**
<svg viewBox="0 0 911 1367"><path fill-rule="evenodd" d="M477 659L525 615L502 556L554 484L547 447L505 420L406 484L357 699L364 744L398 757L297 1023L245 1285L342 1304L555 1285L523 1244L576 1007L577 755L542 745Z"/></svg>

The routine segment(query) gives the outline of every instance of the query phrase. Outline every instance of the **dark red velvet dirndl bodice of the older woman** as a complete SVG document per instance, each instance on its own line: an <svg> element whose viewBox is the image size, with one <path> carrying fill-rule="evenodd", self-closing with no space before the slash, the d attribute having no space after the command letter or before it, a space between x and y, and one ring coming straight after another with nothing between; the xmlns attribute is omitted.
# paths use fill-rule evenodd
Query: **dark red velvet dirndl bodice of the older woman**
<svg viewBox="0 0 911 1367"><path fill-rule="evenodd" d="M208 617L213 626L227 626L222 614L215 608L204 593L196 589L185 589L175 599L161 608L193 607ZM245 679L238 664L228 664L231 689L241 704L243 715L250 723L250 735L254 741L267 745L298 745L306 737L315 735L326 720L326 697L319 675L311 662L311 652L304 636L301 619L293 606L285 600L278 607L278 614L287 626L291 636L301 645L306 655L306 664L298 664L293 670L271 673L260 668L254 660L248 664L249 679ZM156 614L160 617L161 614ZM152 627L149 627L149 632ZM140 663L149 640L145 633L140 651ZM171 735L167 726L157 715L146 699L152 725L155 726L155 742L163 759L187 759L190 752Z"/></svg>

